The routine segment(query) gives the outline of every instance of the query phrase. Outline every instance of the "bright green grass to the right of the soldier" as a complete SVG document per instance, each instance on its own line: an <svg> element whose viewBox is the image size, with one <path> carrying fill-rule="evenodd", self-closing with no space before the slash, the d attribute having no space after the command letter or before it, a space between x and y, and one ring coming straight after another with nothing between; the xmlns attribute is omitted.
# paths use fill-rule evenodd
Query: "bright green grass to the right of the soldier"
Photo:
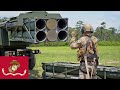
<svg viewBox="0 0 120 90"><path fill-rule="evenodd" d="M120 66L120 46L100 46L100 63L107 66Z"/></svg>

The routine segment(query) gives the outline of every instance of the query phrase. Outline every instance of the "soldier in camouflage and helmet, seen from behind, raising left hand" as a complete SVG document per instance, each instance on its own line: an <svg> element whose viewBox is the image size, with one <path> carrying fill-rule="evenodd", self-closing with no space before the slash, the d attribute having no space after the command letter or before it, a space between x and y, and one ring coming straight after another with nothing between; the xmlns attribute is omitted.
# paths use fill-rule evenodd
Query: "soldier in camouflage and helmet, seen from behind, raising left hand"
<svg viewBox="0 0 120 90"><path fill-rule="evenodd" d="M77 59L80 61L79 78L96 78L96 68L98 66L98 39L92 35L93 28L90 24L84 24L81 28L83 36L76 40L76 33L71 33L70 48L78 49ZM91 77L90 77L91 76Z"/></svg>

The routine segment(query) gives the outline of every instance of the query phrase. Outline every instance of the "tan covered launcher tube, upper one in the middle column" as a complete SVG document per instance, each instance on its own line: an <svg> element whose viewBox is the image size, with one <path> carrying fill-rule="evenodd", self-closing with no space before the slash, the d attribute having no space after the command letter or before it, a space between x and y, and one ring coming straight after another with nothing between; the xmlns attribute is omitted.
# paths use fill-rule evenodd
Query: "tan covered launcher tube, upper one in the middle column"
<svg viewBox="0 0 120 90"><path fill-rule="evenodd" d="M53 30L57 27L57 20L55 19L48 19L46 22L46 26L48 29Z"/></svg>

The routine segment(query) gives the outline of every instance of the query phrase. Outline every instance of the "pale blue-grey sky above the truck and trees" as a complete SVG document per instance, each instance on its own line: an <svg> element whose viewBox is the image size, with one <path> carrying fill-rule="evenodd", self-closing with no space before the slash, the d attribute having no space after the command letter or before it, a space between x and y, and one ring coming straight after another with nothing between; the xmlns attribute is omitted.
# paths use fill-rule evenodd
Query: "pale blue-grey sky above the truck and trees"
<svg viewBox="0 0 120 90"><path fill-rule="evenodd" d="M0 17L14 17L28 11L0 11ZM77 21L92 24L95 29L101 22L106 22L107 28L120 27L120 11L47 11L60 13L63 18L69 19L69 26L75 27Z"/></svg>

